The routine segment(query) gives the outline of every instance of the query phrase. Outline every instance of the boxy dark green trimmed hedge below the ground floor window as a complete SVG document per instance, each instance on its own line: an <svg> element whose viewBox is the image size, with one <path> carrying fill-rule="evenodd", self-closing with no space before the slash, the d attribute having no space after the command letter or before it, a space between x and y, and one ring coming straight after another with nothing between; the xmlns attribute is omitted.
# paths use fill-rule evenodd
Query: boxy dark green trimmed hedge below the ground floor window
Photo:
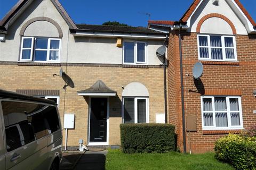
<svg viewBox="0 0 256 170"><path fill-rule="evenodd" d="M175 127L171 124L121 124L124 153L173 151L177 148Z"/></svg>

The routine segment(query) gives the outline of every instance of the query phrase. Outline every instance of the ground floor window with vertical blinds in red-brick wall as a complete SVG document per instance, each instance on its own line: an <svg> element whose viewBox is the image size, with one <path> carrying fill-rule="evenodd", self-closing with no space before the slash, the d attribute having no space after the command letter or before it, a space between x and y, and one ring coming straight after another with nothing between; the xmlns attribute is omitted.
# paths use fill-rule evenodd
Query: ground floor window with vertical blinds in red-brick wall
<svg viewBox="0 0 256 170"><path fill-rule="evenodd" d="M243 129L241 97L203 96L203 130Z"/></svg>

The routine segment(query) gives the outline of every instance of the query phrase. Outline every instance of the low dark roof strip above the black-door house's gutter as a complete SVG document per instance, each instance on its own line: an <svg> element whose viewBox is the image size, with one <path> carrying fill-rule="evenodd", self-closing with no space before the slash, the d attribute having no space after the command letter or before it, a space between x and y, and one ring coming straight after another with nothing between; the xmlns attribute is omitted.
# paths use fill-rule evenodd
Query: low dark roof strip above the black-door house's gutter
<svg viewBox="0 0 256 170"><path fill-rule="evenodd" d="M160 34L165 35L165 33L152 30L146 27L129 27L129 26L117 26L117 25L90 25L90 24L77 24L78 29L81 31L90 32L126 32L126 33L145 33L145 34Z"/></svg>

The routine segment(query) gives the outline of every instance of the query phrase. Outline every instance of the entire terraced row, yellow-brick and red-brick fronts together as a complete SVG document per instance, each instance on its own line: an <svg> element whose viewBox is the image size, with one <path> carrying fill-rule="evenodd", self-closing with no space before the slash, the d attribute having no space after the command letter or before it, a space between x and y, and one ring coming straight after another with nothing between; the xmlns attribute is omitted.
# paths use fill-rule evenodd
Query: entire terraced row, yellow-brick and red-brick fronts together
<svg viewBox="0 0 256 170"><path fill-rule="evenodd" d="M180 21L148 28L75 24L57 0L21 0L0 39L0 88L55 100L62 122L75 114L68 147L120 145L119 124L165 121L156 50L166 40L168 123L182 151L256 124L256 23L238 0L195 0ZM61 68L74 83L65 90Z"/></svg>

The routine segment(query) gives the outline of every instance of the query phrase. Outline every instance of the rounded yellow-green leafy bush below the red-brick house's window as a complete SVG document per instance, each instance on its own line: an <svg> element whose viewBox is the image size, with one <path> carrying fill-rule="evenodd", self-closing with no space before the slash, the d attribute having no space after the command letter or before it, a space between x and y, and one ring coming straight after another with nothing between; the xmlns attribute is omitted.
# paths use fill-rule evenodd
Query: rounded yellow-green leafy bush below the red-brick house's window
<svg viewBox="0 0 256 170"><path fill-rule="evenodd" d="M218 160L230 163L236 169L256 170L256 138L229 134L215 142Z"/></svg>

